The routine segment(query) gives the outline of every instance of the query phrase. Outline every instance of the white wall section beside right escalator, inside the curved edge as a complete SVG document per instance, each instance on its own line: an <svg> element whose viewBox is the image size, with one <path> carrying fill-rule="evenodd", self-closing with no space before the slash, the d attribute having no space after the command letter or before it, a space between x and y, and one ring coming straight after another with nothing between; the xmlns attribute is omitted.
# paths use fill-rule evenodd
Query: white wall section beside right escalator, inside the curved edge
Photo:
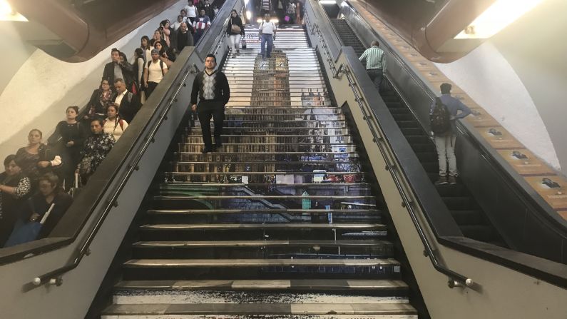
<svg viewBox="0 0 567 319"><path fill-rule="evenodd" d="M561 168L526 86L490 41L458 61L436 66L523 145L554 168Z"/></svg>

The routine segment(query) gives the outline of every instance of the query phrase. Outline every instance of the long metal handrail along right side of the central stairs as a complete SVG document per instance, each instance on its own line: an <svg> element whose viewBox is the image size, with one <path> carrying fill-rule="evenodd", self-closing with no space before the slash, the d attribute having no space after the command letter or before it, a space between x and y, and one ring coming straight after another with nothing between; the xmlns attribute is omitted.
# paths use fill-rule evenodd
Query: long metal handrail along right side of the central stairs
<svg viewBox="0 0 567 319"><path fill-rule="evenodd" d="M414 226L417 230L419 238L422 240L422 244L424 245L424 249L425 249L424 251L425 255L429 257L429 260L431 261L431 264L433 265L435 270L449 277L449 282L448 282L449 288L454 288L457 286L469 287L469 288L472 287L474 285L474 281L471 278L468 278L464 275L461 275L460 273L456 273L454 270L447 268L439 261L439 258L437 258L436 251L438 250L434 250L433 245L431 245L431 243L429 242L429 239L425 234L424 228L419 222L419 219L417 218L414 208L412 207L414 201L412 201L412 199L409 198L409 196L407 196L407 193L404 190L404 187L402 186L402 183L395 172L395 171L399 171L398 166L390 163L388 152L386 149L387 141L374 129L374 126L378 126L378 123L372 117L372 110L369 110L369 112L367 111L367 108L369 108L369 106L367 105L367 103L365 103L365 99L361 97L362 94L359 94L358 92L359 86L357 82L353 79L352 72L350 71L348 66L345 66L344 64L341 64L339 66L339 69L337 70L337 67L335 66L334 61L330 55L327 42L325 41L325 38L323 37L319 26L317 24L312 24L312 26L310 26L310 21L307 18L307 15L305 15L305 23L307 24L307 28L311 30L312 32L311 34L315 34L315 31L317 31L317 36L319 37L322 43L322 48L324 49L323 51L327 56L327 62L329 62L333 78L339 79L340 74L345 74L347 76L347 80L349 81L349 87L352 89L352 93L354 93L354 98L357 101L362 111L362 114L364 115L364 121L368 123L370 132L372 133L373 136L372 141L377 144L379 151L382 154L384 161L386 162L386 169L387 171L389 171L390 175L392 176L392 179L396 184L396 188L398 189L400 195L402 196L402 201L403 201L402 206L407 209L410 218L412 218L412 223L414 223ZM366 105L366 107L364 105Z"/></svg>

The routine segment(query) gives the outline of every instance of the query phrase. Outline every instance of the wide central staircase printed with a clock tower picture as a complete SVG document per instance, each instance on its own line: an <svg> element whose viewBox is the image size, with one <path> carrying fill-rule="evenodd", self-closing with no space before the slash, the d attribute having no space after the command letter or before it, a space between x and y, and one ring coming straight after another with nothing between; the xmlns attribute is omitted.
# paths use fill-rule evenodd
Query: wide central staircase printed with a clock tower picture
<svg viewBox="0 0 567 319"><path fill-rule="evenodd" d="M223 148L184 136L101 318L417 318L305 31L279 30L267 60L246 32Z"/></svg>

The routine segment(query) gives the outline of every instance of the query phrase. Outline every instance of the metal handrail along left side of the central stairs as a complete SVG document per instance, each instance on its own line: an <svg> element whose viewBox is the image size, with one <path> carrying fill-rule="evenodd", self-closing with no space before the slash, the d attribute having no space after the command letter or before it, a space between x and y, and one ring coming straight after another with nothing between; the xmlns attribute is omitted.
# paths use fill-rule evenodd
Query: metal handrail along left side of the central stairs
<svg viewBox="0 0 567 319"><path fill-rule="evenodd" d="M57 268L56 270L52 270L49 273L46 273L44 275L40 275L39 277L34 278L34 280L32 281L34 283L34 285L41 285L42 283L51 283L51 284L55 284L55 285L61 285L63 283L63 280L61 280L60 276L63 275L63 273L68 272L69 270L73 270L74 268L77 268L78 264L81 263L81 260L83 259L83 257L85 255L91 254L89 246L93 242L93 239L95 238L96 233L98 233L98 230L101 228L104 221L106 220L106 216L108 216L108 213L110 213L110 211L113 207L118 207L118 202L117 202L118 197L121 195L121 193L124 189L124 186L126 186L126 183L128 183L128 179L130 178L132 173L134 171L138 171L138 169L139 169L138 163L140 163L142 156L144 155L145 151L148 149L148 147L150 146L151 143L155 142L155 140L154 140L155 133L158 132L161 124L168 119L167 114L168 114L171 106L173 105L173 103L175 103L177 101L177 98L175 98L175 96L178 96L181 88L183 88L185 86L184 82L185 82L185 80L187 80L187 77L190 74L195 74L195 73L198 73L198 72L199 72L199 69L195 64L192 64L191 66L188 67L187 70L185 70L185 75L183 76L183 79L178 83L177 91L175 91L175 93L173 94L173 97L169 99L168 106L165 107L165 110L160 115L160 118L158 119L158 123L153 127L153 130L150 131L150 133L148 133L148 135L143 138L143 141L145 142L143 147L141 148L140 151L138 151L138 155L136 156L136 158L134 158L134 160L131 163L128 164L128 171L126 171L126 174L123 176L123 178L121 178L121 182L113 190L113 196L106 203L106 207L104 208L104 211L101 215L101 218L98 219L98 221L96 222L93 229L91 229L86 240L81 245L81 248L79 250L77 250L76 256L75 256L75 258L73 258L73 262L68 263L67 265L64 265L61 268ZM183 83L183 85L182 85L182 83Z"/></svg>

